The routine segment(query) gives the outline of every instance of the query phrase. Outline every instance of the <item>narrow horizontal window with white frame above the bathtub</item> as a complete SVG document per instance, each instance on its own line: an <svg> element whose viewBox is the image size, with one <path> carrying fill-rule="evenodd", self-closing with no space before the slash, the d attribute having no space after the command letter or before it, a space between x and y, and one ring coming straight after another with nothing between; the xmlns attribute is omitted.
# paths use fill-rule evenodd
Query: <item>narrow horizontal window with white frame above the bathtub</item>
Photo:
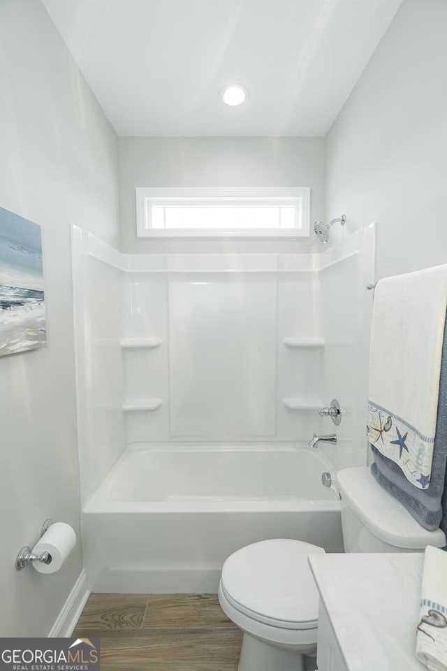
<svg viewBox="0 0 447 671"><path fill-rule="evenodd" d="M138 188L138 237L309 235L310 189Z"/></svg>

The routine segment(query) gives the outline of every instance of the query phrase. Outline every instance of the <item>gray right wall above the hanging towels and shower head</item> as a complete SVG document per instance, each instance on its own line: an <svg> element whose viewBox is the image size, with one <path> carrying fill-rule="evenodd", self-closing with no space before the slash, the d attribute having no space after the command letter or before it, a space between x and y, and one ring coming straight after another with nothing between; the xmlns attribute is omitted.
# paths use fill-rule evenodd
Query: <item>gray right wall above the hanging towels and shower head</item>
<svg viewBox="0 0 447 671"><path fill-rule="evenodd" d="M327 136L327 214L376 221L377 277L447 260L447 3L404 0Z"/></svg>

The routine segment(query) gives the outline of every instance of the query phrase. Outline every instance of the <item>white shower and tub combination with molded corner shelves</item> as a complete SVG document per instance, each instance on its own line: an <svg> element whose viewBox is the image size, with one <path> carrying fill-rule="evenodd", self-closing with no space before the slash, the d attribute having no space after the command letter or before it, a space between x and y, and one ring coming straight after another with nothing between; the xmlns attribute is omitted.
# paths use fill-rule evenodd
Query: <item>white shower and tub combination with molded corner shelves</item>
<svg viewBox="0 0 447 671"><path fill-rule="evenodd" d="M374 226L321 250L122 254L73 228L92 591L216 592L272 537L342 550L321 476L365 463Z"/></svg>

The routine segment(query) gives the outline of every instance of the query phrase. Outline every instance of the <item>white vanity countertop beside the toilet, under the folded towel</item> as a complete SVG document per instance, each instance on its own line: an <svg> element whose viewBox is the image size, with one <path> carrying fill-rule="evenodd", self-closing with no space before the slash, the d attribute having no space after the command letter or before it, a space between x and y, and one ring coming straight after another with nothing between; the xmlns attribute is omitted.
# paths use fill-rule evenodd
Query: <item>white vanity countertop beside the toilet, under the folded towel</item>
<svg viewBox="0 0 447 671"><path fill-rule="evenodd" d="M424 553L309 556L349 671L427 671L415 657Z"/></svg>

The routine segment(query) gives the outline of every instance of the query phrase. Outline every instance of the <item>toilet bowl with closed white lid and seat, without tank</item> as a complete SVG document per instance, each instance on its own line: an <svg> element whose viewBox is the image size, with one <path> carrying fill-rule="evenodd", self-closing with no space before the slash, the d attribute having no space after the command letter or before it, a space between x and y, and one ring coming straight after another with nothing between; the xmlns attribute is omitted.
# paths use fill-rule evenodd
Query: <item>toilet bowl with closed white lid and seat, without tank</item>
<svg viewBox="0 0 447 671"><path fill-rule="evenodd" d="M238 671L304 671L316 653L318 593L309 554L324 549L277 538L243 547L223 565L219 602L244 632Z"/></svg>

